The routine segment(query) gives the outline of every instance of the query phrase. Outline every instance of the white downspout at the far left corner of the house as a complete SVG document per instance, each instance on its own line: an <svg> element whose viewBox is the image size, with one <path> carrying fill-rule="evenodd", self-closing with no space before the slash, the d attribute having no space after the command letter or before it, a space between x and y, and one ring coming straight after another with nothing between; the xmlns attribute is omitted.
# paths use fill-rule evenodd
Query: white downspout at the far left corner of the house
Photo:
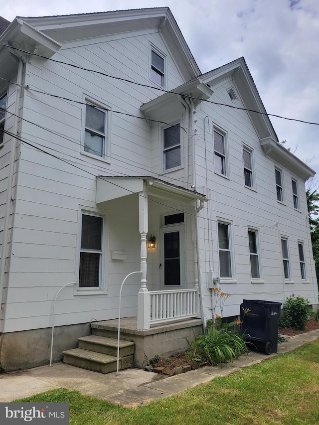
<svg viewBox="0 0 319 425"><path fill-rule="evenodd" d="M18 135L18 121L19 121L19 109L20 109L20 99L22 91L22 77L23 77L23 61L19 58L18 62L18 72L17 72L17 86L15 92L15 110L14 110L14 121L12 133ZM0 319L4 319L3 307L6 303L7 291L3 288L5 284L5 261L7 255L7 246L8 246L8 234L9 234L9 219L10 219L10 208L11 208L11 196L12 196L12 182L13 182L13 171L14 171L14 157L15 149L17 146L17 139L12 137L11 142L11 151L10 151L10 160L9 160L9 170L8 170L8 186L6 192L6 201L5 201L5 212L4 212L4 224L3 224L3 242L1 250L1 263L0 263ZM3 320L0 320L0 332L3 331Z"/></svg>

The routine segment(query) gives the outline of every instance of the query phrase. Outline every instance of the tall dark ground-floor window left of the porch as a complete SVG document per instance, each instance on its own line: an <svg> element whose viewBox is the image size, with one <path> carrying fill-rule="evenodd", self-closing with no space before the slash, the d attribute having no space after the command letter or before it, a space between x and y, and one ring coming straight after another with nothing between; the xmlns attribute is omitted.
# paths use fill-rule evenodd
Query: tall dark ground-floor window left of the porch
<svg viewBox="0 0 319 425"><path fill-rule="evenodd" d="M82 214L79 287L101 286L103 217Z"/></svg>

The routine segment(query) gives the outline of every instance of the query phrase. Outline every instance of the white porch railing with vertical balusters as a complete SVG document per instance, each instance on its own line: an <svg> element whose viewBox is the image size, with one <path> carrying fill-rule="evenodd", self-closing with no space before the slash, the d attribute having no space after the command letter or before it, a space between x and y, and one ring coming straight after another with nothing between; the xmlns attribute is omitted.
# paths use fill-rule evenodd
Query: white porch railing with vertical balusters
<svg viewBox="0 0 319 425"><path fill-rule="evenodd" d="M150 291L150 324L198 317L198 292L193 289Z"/></svg>

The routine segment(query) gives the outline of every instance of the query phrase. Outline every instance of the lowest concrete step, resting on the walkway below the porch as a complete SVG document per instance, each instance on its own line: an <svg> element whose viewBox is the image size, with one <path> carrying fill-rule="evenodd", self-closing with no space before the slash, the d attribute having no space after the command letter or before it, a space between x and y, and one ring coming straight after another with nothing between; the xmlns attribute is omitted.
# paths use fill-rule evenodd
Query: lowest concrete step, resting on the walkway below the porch
<svg viewBox="0 0 319 425"><path fill-rule="evenodd" d="M63 362L72 366L104 374L116 371L117 358L115 356L83 350L82 348L66 350L63 351L63 354ZM119 359L119 369L127 369L132 365L133 355Z"/></svg>

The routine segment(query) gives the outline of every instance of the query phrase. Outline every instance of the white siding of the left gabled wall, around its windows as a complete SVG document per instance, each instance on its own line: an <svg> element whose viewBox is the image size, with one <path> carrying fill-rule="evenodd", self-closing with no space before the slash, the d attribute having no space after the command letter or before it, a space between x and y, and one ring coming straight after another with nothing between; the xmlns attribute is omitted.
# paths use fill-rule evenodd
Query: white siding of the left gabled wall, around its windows
<svg viewBox="0 0 319 425"><path fill-rule="evenodd" d="M150 42L166 55L168 89L182 84L181 74L158 33L101 40L99 43L93 40L84 46L73 43L62 48L53 58L154 85L149 80ZM25 91L23 118L49 131L24 121L21 138L74 166L27 144L22 145L4 331L52 324L56 292L65 283L77 280L81 208L105 214L107 294L75 296L73 287L66 287L60 292L56 304L56 325L115 318L119 285L128 273L140 269L138 198L128 192L130 196L103 204L103 208L98 209L95 204L96 176L150 175L149 124L115 111L143 118L140 106L160 92L36 58L27 64L26 84L78 102L82 102L85 93L110 106L114 111L111 151L110 162L80 153L82 105ZM6 147L2 152L4 149ZM1 175L2 186L4 183L5 171ZM0 201L5 196L4 190ZM127 261L110 260L111 250L126 251ZM132 277L123 290L125 316L137 313L139 280L139 277Z"/></svg>

